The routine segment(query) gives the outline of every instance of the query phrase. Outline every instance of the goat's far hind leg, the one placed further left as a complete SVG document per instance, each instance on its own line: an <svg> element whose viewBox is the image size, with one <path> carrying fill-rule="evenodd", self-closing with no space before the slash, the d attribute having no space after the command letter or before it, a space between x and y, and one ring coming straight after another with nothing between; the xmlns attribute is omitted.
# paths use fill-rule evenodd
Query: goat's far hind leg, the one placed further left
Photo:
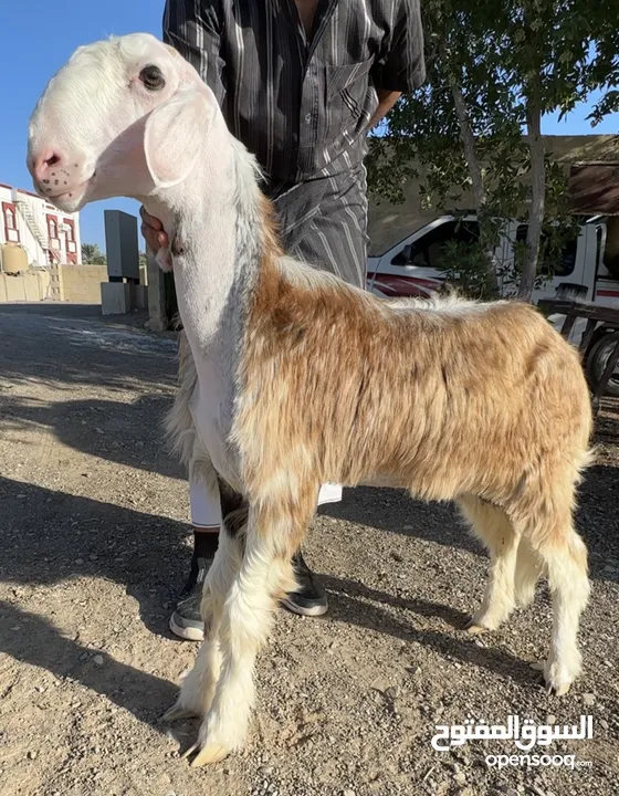
<svg viewBox="0 0 619 796"><path fill-rule="evenodd" d="M483 603L466 626L473 635L496 630L516 604L516 562L520 534L507 514L473 495L459 499L464 517L487 547L491 572Z"/></svg>

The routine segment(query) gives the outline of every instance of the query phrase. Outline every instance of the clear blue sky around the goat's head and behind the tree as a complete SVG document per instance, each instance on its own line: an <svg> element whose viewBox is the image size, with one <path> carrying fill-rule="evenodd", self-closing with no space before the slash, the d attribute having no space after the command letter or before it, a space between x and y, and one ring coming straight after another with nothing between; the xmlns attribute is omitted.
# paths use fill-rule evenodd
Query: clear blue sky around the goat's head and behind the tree
<svg viewBox="0 0 619 796"><path fill-rule="evenodd" d="M164 0L7 0L0 15L0 182L32 189L25 168L28 119L49 78L80 45L111 34L161 34ZM595 98L594 98L595 100ZM546 135L619 133L619 114L591 129L589 105L578 106L558 123L544 119ZM130 199L94 202L81 212L82 242L105 248L103 211L138 213Z"/></svg>

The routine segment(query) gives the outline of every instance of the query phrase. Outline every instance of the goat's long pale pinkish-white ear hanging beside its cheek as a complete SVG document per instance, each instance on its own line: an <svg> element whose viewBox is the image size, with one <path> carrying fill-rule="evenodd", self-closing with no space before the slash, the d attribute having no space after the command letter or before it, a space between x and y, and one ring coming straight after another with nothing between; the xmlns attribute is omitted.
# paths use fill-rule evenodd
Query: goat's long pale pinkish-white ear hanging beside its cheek
<svg viewBox="0 0 619 796"><path fill-rule="evenodd" d="M150 113L144 154L157 188L171 188L191 174L212 116L208 93L197 88L181 88Z"/></svg>

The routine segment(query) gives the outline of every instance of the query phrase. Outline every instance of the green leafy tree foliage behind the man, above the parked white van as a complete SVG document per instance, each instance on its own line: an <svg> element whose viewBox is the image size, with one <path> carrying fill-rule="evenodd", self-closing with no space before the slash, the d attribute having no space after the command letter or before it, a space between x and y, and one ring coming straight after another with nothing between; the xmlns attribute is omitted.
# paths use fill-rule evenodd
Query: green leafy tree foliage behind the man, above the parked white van
<svg viewBox="0 0 619 796"><path fill-rule="evenodd" d="M483 252L471 260L486 271L486 292L505 284L494 258L504 219L528 224L507 279L524 298L541 279L538 263L547 266L557 240L574 234L566 176L545 151L542 118L569 113L591 92L602 92L592 123L619 106L616 2L423 3L428 80L396 105L387 135L370 139L370 189L399 201L416 177L422 203L441 211L470 196Z"/></svg>

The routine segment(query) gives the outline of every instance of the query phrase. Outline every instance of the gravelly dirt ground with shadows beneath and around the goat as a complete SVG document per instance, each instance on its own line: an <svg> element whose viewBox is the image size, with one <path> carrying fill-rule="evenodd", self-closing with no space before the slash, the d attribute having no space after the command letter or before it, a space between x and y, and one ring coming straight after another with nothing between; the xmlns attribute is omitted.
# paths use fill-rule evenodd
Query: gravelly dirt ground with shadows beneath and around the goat
<svg viewBox="0 0 619 796"><path fill-rule="evenodd" d="M197 645L167 629L190 558L187 484L165 450L176 344L80 308L0 306L1 796L616 796L619 789L619 404L606 401L578 526L592 596L585 673L548 698L535 605L482 639L462 627L487 558L448 505L358 489L321 511L306 557L331 610L280 610L246 750L206 769L166 726ZM574 724L576 768L486 765L507 741L439 753L440 724L508 714ZM518 752L518 754L523 754Z"/></svg>

